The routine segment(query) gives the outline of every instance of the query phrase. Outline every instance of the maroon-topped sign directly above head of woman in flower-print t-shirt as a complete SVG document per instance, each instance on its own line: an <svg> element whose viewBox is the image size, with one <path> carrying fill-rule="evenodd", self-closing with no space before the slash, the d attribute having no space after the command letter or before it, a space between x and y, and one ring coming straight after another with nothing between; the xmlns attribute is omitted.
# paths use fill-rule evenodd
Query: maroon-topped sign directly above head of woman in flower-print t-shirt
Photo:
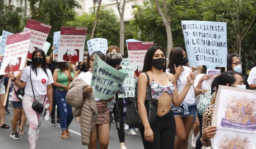
<svg viewBox="0 0 256 149"><path fill-rule="evenodd" d="M51 25L28 19L28 22L25 25L23 31L27 31L27 30L32 31L30 47L28 49L28 56L27 56L29 60L32 59L32 53L36 49L43 49L44 43L48 37L48 34L50 33L51 28L52 28Z"/></svg>

